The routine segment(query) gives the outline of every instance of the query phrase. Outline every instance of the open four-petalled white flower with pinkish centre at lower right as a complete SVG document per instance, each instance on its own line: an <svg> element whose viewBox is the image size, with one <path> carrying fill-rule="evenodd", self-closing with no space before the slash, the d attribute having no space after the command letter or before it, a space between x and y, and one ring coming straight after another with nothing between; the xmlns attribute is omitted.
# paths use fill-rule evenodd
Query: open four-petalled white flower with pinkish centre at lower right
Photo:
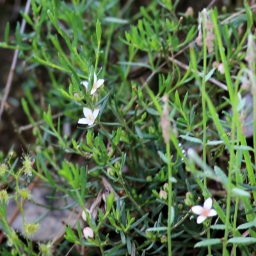
<svg viewBox="0 0 256 256"><path fill-rule="evenodd" d="M209 197L205 200L204 202L204 207L200 206L200 205L195 205L193 207L191 207L191 211L197 215L199 215L197 217L196 223L200 224L202 223L207 217L212 217L217 215L217 212L212 208L212 198Z"/></svg>

